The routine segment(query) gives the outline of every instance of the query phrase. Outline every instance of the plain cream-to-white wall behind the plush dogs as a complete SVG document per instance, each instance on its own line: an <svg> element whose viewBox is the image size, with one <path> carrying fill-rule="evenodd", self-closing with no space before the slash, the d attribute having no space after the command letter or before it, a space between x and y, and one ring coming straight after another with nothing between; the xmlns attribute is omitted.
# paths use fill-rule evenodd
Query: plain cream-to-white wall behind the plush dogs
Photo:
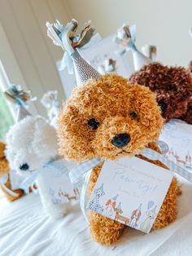
<svg viewBox="0 0 192 256"><path fill-rule="evenodd" d="M47 38L46 20L66 23L74 17L83 24L90 19L103 37L123 23L137 24L138 48L154 44L164 64L187 65L192 60L191 10L191 0L0 0L0 24L8 42L0 38L0 60L11 82L37 97L59 90L64 99L55 65L63 51ZM35 108L45 113L41 104Z"/></svg>

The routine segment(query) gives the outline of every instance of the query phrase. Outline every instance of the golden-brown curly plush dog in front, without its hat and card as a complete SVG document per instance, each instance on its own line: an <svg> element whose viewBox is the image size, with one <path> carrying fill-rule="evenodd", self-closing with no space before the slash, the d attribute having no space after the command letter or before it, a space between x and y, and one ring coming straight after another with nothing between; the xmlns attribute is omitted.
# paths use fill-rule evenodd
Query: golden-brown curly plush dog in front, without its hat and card
<svg viewBox="0 0 192 256"><path fill-rule="evenodd" d="M79 162L94 157L114 160L137 156L145 147L159 152L155 143L163 126L155 95L145 86L129 84L116 74L89 79L72 91L59 113L59 153ZM159 161L150 161L164 166ZM103 166L95 167L89 179L89 195ZM164 166L166 168L166 166ZM177 218L177 195L181 189L173 178L153 228L167 226ZM119 241L124 225L89 211L94 241L111 245Z"/></svg>

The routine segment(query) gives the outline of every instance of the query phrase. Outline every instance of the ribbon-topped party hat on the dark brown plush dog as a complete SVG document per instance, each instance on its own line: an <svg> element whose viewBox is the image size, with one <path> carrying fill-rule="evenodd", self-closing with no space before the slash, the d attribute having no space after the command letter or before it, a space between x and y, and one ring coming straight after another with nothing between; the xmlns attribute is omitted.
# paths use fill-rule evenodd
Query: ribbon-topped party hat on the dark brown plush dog
<svg viewBox="0 0 192 256"><path fill-rule="evenodd" d="M135 71L142 68L146 64L150 64L151 60L137 50L135 46L136 40L136 25L123 25L117 30L115 42L120 45L120 55L124 55L125 52L131 50L133 53L133 64Z"/></svg>

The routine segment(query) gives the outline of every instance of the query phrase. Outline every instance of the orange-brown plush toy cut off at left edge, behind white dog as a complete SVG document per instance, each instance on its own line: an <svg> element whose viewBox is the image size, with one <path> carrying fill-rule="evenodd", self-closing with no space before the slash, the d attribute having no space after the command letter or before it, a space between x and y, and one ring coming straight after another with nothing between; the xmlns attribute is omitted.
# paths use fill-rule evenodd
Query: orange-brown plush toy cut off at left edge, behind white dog
<svg viewBox="0 0 192 256"><path fill-rule="evenodd" d="M8 174L8 179L7 179L7 183L5 183L6 188L8 188L9 190L11 190L11 181L10 181L10 177L9 177L9 163L6 159L5 156L5 149L6 149L6 144L2 141L0 141L0 179L2 177L3 174ZM7 199L9 201L15 201L18 198L20 198L21 196L24 195L23 190L21 189L16 189L14 190L15 193L18 194L18 196L12 196L9 192L7 192L4 188L2 188L0 186L0 188L2 189L2 192L4 192L4 194L7 196Z"/></svg>

